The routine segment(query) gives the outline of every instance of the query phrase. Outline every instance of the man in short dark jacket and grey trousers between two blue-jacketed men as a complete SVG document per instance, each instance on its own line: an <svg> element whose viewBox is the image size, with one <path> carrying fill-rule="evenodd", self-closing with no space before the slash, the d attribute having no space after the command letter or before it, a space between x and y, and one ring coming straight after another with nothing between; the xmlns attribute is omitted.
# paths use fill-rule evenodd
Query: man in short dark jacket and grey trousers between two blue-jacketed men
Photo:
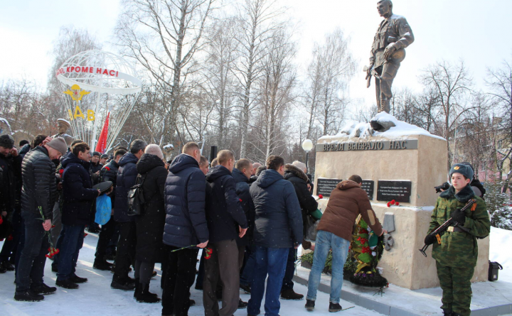
<svg viewBox="0 0 512 316"><path fill-rule="evenodd" d="M231 316L238 309L240 269L236 239L247 231L247 219L236 194L231 171L235 167L232 151L220 151L218 165L206 175L206 220L210 233L211 258L205 262L203 304L206 316ZM223 285L223 307L215 296L217 281Z"/></svg>

